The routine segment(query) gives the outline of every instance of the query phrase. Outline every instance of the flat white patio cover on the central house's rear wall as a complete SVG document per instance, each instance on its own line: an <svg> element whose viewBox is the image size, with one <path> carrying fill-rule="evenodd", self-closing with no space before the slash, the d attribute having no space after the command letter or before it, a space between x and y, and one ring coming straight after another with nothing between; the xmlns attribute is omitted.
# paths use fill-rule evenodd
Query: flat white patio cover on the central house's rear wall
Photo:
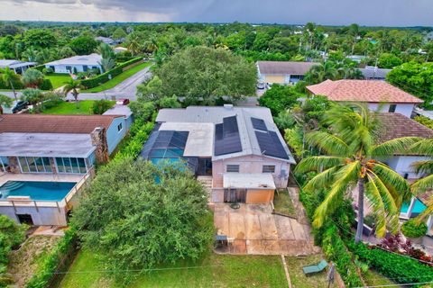
<svg viewBox="0 0 433 288"><path fill-rule="evenodd" d="M225 173L224 188L276 189L272 174L269 173Z"/></svg>

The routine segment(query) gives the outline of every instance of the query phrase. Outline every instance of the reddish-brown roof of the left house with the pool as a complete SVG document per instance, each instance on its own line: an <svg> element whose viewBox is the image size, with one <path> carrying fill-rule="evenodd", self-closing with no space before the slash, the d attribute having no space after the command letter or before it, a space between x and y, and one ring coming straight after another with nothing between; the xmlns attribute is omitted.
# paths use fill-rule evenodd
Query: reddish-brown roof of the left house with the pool
<svg viewBox="0 0 433 288"><path fill-rule="evenodd" d="M119 115L0 115L0 133L71 133L88 134L97 127L106 130Z"/></svg>

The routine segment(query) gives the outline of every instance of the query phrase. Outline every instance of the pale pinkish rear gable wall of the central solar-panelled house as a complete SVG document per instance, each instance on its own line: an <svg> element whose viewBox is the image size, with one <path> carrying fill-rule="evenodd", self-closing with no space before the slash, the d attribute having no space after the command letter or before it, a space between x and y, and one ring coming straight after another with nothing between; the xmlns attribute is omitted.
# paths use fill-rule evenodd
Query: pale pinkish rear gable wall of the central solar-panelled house
<svg viewBox="0 0 433 288"><path fill-rule="evenodd" d="M226 173L227 165L239 165L239 173L263 173L263 165L275 166L272 173L273 181L277 188L286 188L290 173L290 164L271 157L244 156L233 157L212 162L213 188L223 187L223 174ZM285 171L287 177L281 177L281 170Z"/></svg>

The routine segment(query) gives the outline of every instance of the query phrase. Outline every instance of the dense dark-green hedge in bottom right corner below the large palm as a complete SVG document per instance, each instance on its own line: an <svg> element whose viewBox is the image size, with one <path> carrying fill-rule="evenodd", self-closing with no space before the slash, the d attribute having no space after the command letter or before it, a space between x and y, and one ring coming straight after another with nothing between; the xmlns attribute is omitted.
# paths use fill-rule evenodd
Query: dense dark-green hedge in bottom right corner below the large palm
<svg viewBox="0 0 433 288"><path fill-rule="evenodd" d="M348 243L356 256L382 275L400 284L433 282L433 268L418 260L383 251L365 244Z"/></svg>

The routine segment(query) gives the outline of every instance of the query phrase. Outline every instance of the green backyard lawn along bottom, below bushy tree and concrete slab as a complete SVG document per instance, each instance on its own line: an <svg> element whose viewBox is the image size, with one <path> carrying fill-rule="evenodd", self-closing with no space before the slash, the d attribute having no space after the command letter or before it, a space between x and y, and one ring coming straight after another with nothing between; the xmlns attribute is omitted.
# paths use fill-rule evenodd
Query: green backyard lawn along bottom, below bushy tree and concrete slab
<svg viewBox="0 0 433 288"><path fill-rule="evenodd" d="M185 269L182 267L189 266ZM197 267L201 266L201 267ZM89 251L80 251L60 284L61 288L116 287ZM142 287L287 287L280 256L223 256L209 254L198 262L138 276L129 288ZM88 273L80 273L88 271ZM311 287L315 287L314 285Z"/></svg>

